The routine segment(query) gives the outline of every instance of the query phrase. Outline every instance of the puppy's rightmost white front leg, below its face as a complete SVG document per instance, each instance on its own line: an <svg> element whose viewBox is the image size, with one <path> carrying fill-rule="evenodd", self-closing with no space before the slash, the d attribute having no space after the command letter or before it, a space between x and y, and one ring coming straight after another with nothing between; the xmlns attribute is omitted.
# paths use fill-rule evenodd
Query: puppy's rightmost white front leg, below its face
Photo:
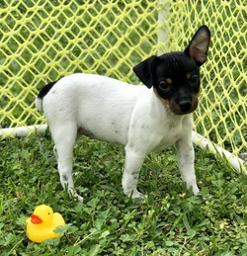
<svg viewBox="0 0 247 256"><path fill-rule="evenodd" d="M193 193L197 195L199 188L194 167L195 152L193 142L189 138L182 138L176 142L175 147L182 179L186 182L187 189L192 187Z"/></svg>

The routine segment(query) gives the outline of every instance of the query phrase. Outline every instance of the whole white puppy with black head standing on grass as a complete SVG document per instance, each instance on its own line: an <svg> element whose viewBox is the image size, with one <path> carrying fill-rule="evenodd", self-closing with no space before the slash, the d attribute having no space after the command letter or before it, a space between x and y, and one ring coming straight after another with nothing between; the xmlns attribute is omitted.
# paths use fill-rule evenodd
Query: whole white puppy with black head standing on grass
<svg viewBox="0 0 247 256"><path fill-rule="evenodd" d="M124 194L136 189L147 154L175 145L187 188L199 193L194 168L193 116L210 33L202 26L184 51L151 56L133 68L145 86L93 74L72 74L41 89L37 108L47 120L63 188L78 198L72 179L73 147L82 135L125 147Z"/></svg>

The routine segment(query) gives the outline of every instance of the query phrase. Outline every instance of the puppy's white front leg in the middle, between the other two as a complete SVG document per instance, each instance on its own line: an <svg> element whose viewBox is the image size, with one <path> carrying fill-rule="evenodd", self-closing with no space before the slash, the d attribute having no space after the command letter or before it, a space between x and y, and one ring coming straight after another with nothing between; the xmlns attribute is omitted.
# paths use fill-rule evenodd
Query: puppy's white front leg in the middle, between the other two
<svg viewBox="0 0 247 256"><path fill-rule="evenodd" d="M128 197L132 197L132 199L144 198L144 196L136 189L138 176L144 157L145 156L141 156L138 153L125 148L125 163L122 186L124 188L124 194Z"/></svg>

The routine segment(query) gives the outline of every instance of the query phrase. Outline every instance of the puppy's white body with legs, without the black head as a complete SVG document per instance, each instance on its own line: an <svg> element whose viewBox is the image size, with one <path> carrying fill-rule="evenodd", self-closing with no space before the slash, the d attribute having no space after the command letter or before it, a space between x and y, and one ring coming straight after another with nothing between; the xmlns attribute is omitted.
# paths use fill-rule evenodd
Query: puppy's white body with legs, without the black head
<svg viewBox="0 0 247 256"><path fill-rule="evenodd" d="M72 74L56 82L42 100L38 98L37 108L43 110L55 142L61 184L80 201L71 171L73 147L82 134L125 145L123 187L128 196L142 197L136 185L144 157L169 145L177 149L187 187L199 192L192 114L173 114L153 89L100 75Z"/></svg>

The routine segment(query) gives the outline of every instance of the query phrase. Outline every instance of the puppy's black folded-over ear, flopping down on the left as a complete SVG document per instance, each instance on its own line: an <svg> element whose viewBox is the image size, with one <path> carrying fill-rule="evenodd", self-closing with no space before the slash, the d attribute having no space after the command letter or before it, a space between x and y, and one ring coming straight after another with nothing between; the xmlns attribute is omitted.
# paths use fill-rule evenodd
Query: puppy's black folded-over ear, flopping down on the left
<svg viewBox="0 0 247 256"><path fill-rule="evenodd" d="M153 55L133 67L133 72L149 89L153 86L155 79L153 70L160 61L159 57Z"/></svg>

